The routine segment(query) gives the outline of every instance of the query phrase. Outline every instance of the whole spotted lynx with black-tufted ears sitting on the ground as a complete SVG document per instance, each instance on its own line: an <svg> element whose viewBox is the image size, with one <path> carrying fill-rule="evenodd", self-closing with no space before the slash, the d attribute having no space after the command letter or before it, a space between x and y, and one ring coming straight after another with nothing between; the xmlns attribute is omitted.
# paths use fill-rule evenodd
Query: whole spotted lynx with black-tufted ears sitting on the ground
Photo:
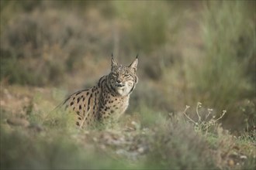
<svg viewBox="0 0 256 170"><path fill-rule="evenodd" d="M111 59L111 72L102 76L94 87L80 90L64 100L64 107L77 116L76 124L80 128L117 120L129 105L138 77L136 75L138 59L130 66L122 66Z"/></svg>

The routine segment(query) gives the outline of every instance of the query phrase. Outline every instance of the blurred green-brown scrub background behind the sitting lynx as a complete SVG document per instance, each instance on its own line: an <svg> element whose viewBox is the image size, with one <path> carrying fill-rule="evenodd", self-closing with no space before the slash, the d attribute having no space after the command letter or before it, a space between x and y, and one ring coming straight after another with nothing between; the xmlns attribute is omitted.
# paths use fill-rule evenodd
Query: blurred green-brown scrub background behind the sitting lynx
<svg viewBox="0 0 256 170"><path fill-rule="evenodd" d="M193 117L201 102L202 114L227 110L223 128L241 134L256 122L255 17L254 1L1 0L2 88L64 97L109 73L111 53L126 64L138 53L140 80L126 114L150 124L186 105Z"/></svg>

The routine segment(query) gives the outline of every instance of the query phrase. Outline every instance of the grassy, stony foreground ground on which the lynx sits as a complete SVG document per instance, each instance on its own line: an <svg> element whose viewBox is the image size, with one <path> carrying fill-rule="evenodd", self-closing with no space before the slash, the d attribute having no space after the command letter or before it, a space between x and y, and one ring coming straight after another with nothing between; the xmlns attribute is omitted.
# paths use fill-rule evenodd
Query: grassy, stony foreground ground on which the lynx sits
<svg viewBox="0 0 256 170"><path fill-rule="evenodd" d="M26 87L19 90L2 87L16 103L28 97ZM142 108L132 116L124 115L112 127L81 131L73 126L73 114L50 112L49 106L54 108L58 103L54 93L57 92L52 89L50 95L42 91L36 97L30 96L29 102L23 102L23 112L8 110L12 104L2 107L1 168L253 169L255 166L255 141L247 134L234 138L217 122L215 128L205 131L191 124L182 113L168 115ZM50 104L45 103L45 97ZM3 100L9 99L4 95ZM200 110L196 111L200 114ZM18 124L14 119L28 124Z"/></svg>

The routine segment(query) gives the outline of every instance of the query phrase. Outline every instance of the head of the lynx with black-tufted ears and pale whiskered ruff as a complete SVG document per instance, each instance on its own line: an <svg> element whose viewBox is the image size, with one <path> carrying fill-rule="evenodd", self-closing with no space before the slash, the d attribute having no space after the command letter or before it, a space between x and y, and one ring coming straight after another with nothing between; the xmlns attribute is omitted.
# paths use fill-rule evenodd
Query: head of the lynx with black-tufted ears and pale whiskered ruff
<svg viewBox="0 0 256 170"><path fill-rule="evenodd" d="M112 90L118 93L120 96L126 96L130 94L135 85L138 83L138 77L136 75L138 58L130 64L130 66L123 66L111 58L111 72L109 73L109 85Z"/></svg>

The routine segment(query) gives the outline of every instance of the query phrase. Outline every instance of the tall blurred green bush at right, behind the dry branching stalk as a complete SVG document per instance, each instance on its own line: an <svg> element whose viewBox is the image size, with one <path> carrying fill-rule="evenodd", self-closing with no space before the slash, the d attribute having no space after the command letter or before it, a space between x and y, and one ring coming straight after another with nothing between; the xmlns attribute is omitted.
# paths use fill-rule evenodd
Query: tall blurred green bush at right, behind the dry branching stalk
<svg viewBox="0 0 256 170"><path fill-rule="evenodd" d="M200 100L221 110L230 110L241 97L254 97L254 15L249 5L207 2L202 12L205 55L191 77Z"/></svg>

